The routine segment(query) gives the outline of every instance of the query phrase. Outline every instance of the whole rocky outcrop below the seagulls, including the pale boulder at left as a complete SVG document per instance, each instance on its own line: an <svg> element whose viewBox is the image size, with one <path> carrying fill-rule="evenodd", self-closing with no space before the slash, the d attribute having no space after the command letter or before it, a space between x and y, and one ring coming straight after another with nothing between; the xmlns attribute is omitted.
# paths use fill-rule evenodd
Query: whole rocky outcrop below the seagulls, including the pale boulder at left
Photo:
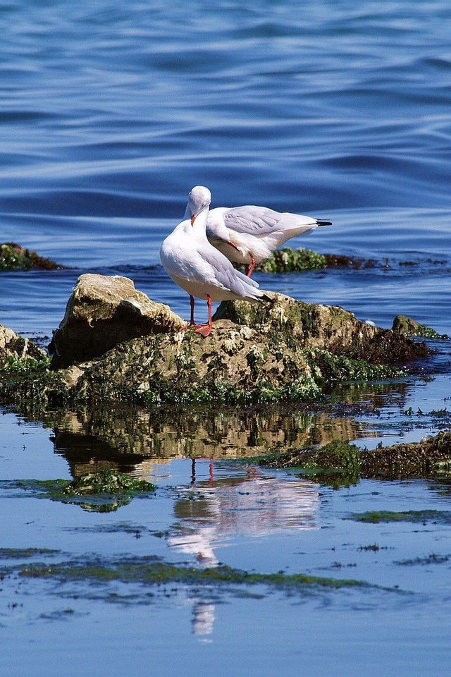
<svg viewBox="0 0 451 677"><path fill-rule="evenodd" d="M340 307L267 296L221 303L203 338L178 331L183 320L131 280L84 275L52 341L54 371L22 379L18 370L0 394L77 406L312 401L331 383L404 376L399 365L430 352Z"/></svg>

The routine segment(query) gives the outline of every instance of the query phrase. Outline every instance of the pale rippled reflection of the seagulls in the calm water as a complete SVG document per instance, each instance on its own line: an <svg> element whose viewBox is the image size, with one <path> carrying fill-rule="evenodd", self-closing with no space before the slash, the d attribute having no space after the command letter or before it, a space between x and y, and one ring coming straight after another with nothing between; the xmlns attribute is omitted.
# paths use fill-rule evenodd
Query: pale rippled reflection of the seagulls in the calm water
<svg viewBox="0 0 451 677"><path fill-rule="evenodd" d="M279 474L268 477L253 465L244 474L240 470L179 489L174 508L178 522L168 536L171 547L204 566L215 566L215 548L237 535L261 537L318 527L318 484Z"/></svg>

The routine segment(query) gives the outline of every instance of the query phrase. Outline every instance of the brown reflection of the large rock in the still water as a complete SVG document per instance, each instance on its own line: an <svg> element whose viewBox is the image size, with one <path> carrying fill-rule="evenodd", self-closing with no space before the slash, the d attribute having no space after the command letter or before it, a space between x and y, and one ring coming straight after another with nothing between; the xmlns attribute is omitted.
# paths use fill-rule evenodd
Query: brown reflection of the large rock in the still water
<svg viewBox="0 0 451 677"><path fill-rule="evenodd" d="M48 424L54 451L67 458L75 476L102 468L136 472L147 459L259 456L364 435L351 417L280 409L66 411L54 413Z"/></svg>

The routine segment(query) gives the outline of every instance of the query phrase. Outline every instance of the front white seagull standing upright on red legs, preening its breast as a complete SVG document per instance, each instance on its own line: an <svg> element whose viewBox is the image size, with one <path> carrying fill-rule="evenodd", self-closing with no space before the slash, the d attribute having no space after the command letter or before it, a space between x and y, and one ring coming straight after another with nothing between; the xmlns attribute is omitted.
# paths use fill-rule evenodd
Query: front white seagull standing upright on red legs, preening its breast
<svg viewBox="0 0 451 677"><path fill-rule="evenodd" d="M206 238L206 221L211 193L203 185L190 192L185 218L168 235L160 248L160 259L168 275L190 295L191 319L183 329L192 328L208 336L211 331L211 303L230 299L259 301L265 294L249 277L235 270L233 264ZM194 322L194 296L206 299L209 319Z"/></svg>

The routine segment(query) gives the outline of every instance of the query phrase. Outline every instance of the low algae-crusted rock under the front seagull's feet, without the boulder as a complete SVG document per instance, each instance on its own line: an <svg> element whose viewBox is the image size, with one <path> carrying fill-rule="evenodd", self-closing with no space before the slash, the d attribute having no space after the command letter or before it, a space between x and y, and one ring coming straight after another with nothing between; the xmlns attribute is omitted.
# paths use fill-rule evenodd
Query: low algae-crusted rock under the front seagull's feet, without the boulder
<svg viewBox="0 0 451 677"><path fill-rule="evenodd" d="M308 401L327 383L399 375L387 365L428 354L424 343L342 308L268 296L268 303L222 303L207 339L185 331L122 343L90 365L76 389L99 403Z"/></svg>

